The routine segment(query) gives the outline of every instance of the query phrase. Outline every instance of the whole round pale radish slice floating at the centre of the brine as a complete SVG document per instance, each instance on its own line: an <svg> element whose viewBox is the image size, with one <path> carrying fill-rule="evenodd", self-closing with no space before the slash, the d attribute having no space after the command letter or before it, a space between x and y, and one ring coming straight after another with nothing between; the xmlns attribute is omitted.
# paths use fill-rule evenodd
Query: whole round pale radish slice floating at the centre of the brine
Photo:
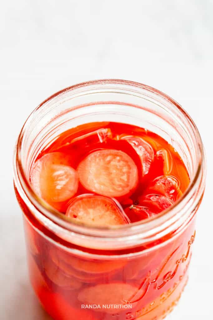
<svg viewBox="0 0 213 320"><path fill-rule="evenodd" d="M136 164L120 150L95 151L80 162L77 171L84 188L103 196L124 196L138 183Z"/></svg>

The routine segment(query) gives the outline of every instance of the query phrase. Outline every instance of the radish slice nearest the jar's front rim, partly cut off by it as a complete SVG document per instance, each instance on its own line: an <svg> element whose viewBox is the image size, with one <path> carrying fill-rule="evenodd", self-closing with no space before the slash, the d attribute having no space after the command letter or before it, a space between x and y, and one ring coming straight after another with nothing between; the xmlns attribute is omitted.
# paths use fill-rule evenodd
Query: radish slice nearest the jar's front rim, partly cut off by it
<svg viewBox="0 0 213 320"><path fill-rule="evenodd" d="M66 216L90 226L115 226L129 223L116 200L95 195L81 195L72 199Z"/></svg>

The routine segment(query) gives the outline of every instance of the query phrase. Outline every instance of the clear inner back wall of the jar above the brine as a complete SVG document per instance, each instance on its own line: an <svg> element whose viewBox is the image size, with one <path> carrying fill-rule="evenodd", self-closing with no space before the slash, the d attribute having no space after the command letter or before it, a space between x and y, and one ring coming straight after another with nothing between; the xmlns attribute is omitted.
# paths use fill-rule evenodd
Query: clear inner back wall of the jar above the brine
<svg viewBox="0 0 213 320"><path fill-rule="evenodd" d="M152 131L181 156L190 180L198 162L196 137L188 118L171 101L141 92L113 87L67 90L44 102L30 116L22 140L21 162L27 178L38 154L58 135L81 124L113 121Z"/></svg>

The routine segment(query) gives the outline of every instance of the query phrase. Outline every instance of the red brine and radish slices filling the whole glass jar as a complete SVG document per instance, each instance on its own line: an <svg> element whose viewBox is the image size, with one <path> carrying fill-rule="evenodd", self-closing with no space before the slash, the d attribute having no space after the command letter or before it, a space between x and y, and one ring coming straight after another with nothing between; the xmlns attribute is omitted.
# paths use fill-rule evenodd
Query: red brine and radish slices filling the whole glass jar
<svg viewBox="0 0 213 320"><path fill-rule="evenodd" d="M162 320L178 303L202 195L187 218L169 216L192 179L169 141L133 124L89 122L31 157L32 201L18 183L15 191L30 281L53 319Z"/></svg>

